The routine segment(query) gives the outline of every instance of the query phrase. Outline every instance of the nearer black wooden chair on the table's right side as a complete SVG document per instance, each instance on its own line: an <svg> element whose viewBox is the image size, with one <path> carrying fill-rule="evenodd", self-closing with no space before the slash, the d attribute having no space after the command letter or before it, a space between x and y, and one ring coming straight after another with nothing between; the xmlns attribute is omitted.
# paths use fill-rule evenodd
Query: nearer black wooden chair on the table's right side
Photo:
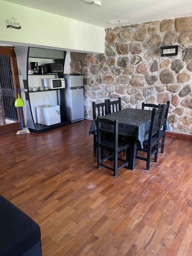
<svg viewBox="0 0 192 256"><path fill-rule="evenodd" d="M164 105L161 105L160 108L153 108L151 115L151 123L149 128L149 137L143 142L143 148L137 146L138 151L147 152L147 157L136 155L137 159L146 161L146 170L150 170L151 156L155 155L154 162L157 163L158 160L158 149L159 149L159 140L160 140L160 129L162 122L162 113L164 111Z"/></svg>

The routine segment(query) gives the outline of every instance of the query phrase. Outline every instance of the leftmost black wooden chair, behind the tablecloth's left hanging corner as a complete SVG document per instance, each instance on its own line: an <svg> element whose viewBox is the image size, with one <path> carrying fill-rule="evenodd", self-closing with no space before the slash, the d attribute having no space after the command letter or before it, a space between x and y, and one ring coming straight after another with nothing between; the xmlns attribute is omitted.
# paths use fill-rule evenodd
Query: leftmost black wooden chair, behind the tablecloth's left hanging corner
<svg viewBox="0 0 192 256"><path fill-rule="evenodd" d="M98 103L96 104L95 101L92 102L92 106L93 106L93 120L95 118L97 118L97 114L98 116L104 116L108 114L108 100L105 100L105 102L103 103ZM100 111L101 110L101 111ZM96 114L97 111L97 114ZM93 135L93 152L94 155L96 155L97 153L97 135Z"/></svg>

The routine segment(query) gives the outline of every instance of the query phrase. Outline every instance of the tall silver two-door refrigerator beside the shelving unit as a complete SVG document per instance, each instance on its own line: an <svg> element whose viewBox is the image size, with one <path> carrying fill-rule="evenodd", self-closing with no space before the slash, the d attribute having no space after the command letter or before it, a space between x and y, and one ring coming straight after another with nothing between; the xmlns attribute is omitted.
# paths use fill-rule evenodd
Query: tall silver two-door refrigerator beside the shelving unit
<svg viewBox="0 0 192 256"><path fill-rule="evenodd" d="M83 75L64 74L65 107L67 119L72 123L84 118Z"/></svg>

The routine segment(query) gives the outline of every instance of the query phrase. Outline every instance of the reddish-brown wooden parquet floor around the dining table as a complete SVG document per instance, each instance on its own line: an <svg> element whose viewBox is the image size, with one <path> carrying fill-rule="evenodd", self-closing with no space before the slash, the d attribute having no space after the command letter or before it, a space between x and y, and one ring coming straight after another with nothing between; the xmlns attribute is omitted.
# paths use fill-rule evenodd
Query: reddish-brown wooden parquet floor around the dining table
<svg viewBox="0 0 192 256"><path fill-rule="evenodd" d="M41 227L43 256L191 256L192 140L151 171L96 167L89 121L0 137L0 194Z"/></svg>

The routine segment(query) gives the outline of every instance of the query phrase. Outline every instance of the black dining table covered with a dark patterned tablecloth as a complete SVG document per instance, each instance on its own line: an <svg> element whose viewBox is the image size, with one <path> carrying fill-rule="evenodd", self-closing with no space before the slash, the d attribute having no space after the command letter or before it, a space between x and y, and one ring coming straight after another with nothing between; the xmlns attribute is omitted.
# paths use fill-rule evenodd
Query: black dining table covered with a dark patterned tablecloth
<svg viewBox="0 0 192 256"><path fill-rule="evenodd" d="M143 142L148 139L149 128L151 122L152 110L145 109L133 109L125 108L114 113L101 116L101 118L107 118L109 120L118 120L118 134L126 136L130 142L130 157L129 157L129 169L135 169L135 157L137 150L137 143L140 143L143 148ZM114 127L108 125L108 127L102 127L104 129L113 131ZM166 130L170 131L168 122L166 123ZM93 120L90 134L97 134L97 119Z"/></svg>

